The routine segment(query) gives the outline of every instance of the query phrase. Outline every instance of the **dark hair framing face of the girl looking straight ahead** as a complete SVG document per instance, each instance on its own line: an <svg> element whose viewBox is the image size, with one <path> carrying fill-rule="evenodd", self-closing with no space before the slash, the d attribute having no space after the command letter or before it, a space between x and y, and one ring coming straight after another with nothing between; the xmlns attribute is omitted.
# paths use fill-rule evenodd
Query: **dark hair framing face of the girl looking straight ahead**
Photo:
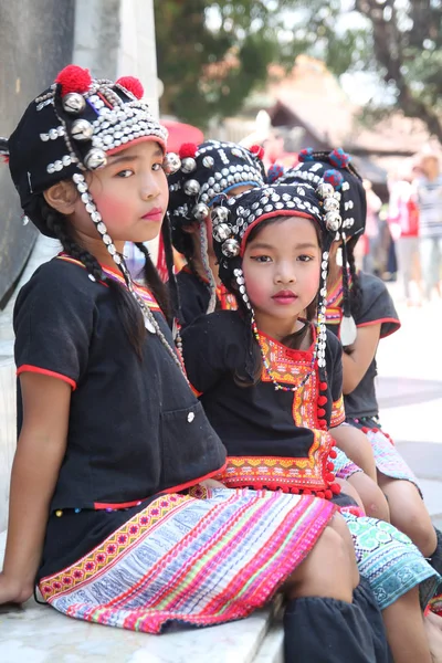
<svg viewBox="0 0 442 663"><path fill-rule="evenodd" d="M295 215L295 213L293 215ZM287 218L288 217L286 217L286 215L272 217L271 219L265 219L261 223L256 224L250 231L250 234L246 239L245 245L248 245L250 242L252 242L254 239L256 239L256 236L269 225L272 225L274 223L282 223L283 221L286 221ZM312 219L312 223L315 228L319 249L322 250L320 230L317 227L314 219ZM241 314L242 315L245 314L248 322L249 322L248 336L245 337L245 347L246 347L245 370L243 370L243 371L236 370L234 372L233 379L234 379L234 382L239 387L252 387L253 385L257 385L261 381L262 357L261 357L261 351L260 351L259 345L257 345L256 339L251 329L250 312L249 312L249 309L246 309L240 293L238 293L238 291L233 287L233 284L234 284L234 281L232 281L232 285L229 290L234 295L238 306L239 306L239 309L241 311ZM283 345L285 345L287 348L291 348L294 350L297 350L301 348L306 334L312 328L312 325L309 325L308 323L311 320L315 319L315 317L316 317L316 308L317 308L317 295L315 296L313 302L311 302L308 304L308 306L305 311L305 318L307 320L307 324L305 324L302 329L298 329L297 332L294 332L293 334L288 334L288 336L283 338L281 341Z"/></svg>

